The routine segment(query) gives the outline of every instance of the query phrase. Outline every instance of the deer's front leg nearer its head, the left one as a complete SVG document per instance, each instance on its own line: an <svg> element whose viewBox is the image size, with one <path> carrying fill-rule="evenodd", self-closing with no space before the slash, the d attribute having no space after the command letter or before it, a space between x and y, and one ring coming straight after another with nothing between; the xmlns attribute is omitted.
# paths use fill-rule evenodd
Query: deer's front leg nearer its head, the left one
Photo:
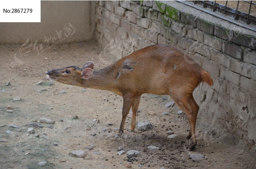
<svg viewBox="0 0 256 169"><path fill-rule="evenodd" d="M124 131L124 123L125 119L131 109L132 106L132 98L128 96L123 96L124 103L123 103L123 111L122 111L122 121L119 128L119 133L116 135L116 137L120 137L123 134Z"/></svg>

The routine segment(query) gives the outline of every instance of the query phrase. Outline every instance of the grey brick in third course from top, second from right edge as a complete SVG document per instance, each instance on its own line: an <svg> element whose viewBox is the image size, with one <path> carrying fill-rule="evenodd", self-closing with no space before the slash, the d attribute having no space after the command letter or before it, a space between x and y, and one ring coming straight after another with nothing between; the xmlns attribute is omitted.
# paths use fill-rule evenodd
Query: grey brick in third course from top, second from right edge
<svg viewBox="0 0 256 169"><path fill-rule="evenodd" d="M230 60L230 70L251 78L251 64L246 62L239 62L237 59Z"/></svg>

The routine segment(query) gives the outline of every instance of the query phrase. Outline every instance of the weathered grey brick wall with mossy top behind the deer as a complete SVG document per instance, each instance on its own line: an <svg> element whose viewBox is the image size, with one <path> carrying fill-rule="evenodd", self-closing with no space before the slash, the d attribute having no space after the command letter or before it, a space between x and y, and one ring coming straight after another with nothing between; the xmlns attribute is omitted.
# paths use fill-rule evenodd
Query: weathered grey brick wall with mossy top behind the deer
<svg viewBox="0 0 256 169"><path fill-rule="evenodd" d="M255 153L255 32L175 1L97 1L95 19L95 38L115 60L157 43L191 55L214 80L194 92L197 130Z"/></svg>

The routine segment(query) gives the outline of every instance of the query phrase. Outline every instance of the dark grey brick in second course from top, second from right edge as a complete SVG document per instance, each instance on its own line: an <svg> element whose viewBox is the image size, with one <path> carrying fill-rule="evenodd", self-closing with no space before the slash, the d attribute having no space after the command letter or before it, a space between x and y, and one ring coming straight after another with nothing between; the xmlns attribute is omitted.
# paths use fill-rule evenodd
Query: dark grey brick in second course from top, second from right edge
<svg viewBox="0 0 256 169"><path fill-rule="evenodd" d="M230 43L222 43L222 51L225 54L228 54L236 59L242 60L243 59L243 51L240 47L230 44Z"/></svg>

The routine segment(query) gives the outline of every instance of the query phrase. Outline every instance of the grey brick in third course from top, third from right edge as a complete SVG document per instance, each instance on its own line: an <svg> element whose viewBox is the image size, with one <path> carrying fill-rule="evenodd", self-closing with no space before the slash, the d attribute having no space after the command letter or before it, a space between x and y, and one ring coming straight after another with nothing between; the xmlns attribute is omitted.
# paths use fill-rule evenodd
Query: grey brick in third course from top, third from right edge
<svg viewBox="0 0 256 169"><path fill-rule="evenodd" d="M229 68L230 58L217 50L211 50L211 60L222 66Z"/></svg>

